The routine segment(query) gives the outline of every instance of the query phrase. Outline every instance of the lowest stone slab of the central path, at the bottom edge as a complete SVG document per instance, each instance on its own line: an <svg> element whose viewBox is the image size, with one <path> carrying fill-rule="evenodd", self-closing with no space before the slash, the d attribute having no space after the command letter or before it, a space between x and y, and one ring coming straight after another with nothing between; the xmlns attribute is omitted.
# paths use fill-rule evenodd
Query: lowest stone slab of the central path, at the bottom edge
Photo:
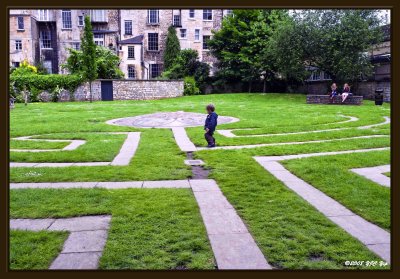
<svg viewBox="0 0 400 279"><path fill-rule="evenodd" d="M218 269L272 269L249 233L210 235Z"/></svg>

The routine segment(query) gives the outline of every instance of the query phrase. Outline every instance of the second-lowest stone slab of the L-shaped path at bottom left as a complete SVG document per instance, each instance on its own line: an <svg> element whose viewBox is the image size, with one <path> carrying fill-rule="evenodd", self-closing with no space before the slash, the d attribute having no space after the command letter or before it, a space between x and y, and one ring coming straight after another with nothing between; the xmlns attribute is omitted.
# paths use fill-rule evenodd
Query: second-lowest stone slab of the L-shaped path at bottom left
<svg viewBox="0 0 400 279"><path fill-rule="evenodd" d="M101 252L107 240L107 231L71 232L62 253Z"/></svg>

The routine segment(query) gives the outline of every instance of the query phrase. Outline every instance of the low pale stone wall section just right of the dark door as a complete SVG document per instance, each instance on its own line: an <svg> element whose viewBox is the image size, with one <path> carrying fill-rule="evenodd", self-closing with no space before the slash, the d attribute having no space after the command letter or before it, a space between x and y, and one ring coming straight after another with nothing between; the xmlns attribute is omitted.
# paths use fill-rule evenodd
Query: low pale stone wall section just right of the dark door
<svg viewBox="0 0 400 279"><path fill-rule="evenodd" d="M114 100L155 100L183 96L182 80L114 80Z"/></svg>

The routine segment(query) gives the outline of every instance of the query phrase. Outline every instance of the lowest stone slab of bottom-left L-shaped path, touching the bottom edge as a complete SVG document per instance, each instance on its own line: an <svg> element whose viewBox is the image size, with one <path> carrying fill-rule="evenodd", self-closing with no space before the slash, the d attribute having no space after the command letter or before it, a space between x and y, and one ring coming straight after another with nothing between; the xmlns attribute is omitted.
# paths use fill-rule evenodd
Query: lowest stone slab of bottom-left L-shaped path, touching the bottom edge
<svg viewBox="0 0 400 279"><path fill-rule="evenodd" d="M97 269L101 252L60 254L50 269Z"/></svg>

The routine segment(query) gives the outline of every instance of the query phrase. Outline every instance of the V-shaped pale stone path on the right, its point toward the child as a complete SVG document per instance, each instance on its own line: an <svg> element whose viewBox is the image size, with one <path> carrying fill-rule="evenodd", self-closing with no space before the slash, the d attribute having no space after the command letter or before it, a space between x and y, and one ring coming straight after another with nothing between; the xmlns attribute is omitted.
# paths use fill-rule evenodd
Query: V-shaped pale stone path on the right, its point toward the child
<svg viewBox="0 0 400 279"><path fill-rule="evenodd" d="M387 148L389 149L389 148ZM364 149L354 152L368 152L377 149ZM290 155L290 159L347 154L349 151L325 152L302 154L302 156ZM319 155L320 154L320 155ZM318 211L324 214L332 222L340 226L353 237L361 241L369 250L377 254L379 257L390 263L390 233L380 227L366 221L354 212L344 207L339 202L327 196L322 191L314 188L304 180L298 178L289 172L282 164L281 160L287 160L285 156L267 156L254 157L254 159L274 175L278 180L283 182L288 188L297 193L304 200L309 202Z"/></svg>

